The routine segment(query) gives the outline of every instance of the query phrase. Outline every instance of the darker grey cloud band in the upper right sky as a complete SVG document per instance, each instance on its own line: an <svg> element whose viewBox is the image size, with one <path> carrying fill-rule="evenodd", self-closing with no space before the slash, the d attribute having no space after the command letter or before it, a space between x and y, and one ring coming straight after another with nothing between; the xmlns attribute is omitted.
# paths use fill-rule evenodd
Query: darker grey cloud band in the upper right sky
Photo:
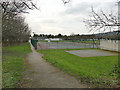
<svg viewBox="0 0 120 90"><path fill-rule="evenodd" d="M115 2L81 2L79 4L76 4L75 6L67 8L63 12L63 14L64 15L79 15L79 14L88 15L91 12L91 7L93 7L95 10L100 10L100 9L110 10L115 7Z"/></svg>

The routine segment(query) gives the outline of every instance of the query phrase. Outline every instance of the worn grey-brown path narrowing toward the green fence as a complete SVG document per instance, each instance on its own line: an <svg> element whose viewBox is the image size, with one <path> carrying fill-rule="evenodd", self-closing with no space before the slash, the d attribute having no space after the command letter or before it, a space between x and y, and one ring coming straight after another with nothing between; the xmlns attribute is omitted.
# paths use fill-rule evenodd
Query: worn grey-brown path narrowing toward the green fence
<svg viewBox="0 0 120 90"><path fill-rule="evenodd" d="M27 58L25 76L20 83L20 88L86 88L86 85L74 77L60 71L42 59L42 54L37 53L33 47L32 53Z"/></svg>

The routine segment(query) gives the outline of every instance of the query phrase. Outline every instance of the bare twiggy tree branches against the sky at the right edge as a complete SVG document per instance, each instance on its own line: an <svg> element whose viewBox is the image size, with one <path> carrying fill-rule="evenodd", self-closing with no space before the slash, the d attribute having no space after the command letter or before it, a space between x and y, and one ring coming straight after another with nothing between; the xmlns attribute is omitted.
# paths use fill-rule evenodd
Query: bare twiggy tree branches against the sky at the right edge
<svg viewBox="0 0 120 90"><path fill-rule="evenodd" d="M118 5L120 2L118 2ZM88 26L90 31L98 31L98 30L107 30L107 28L111 29L112 27L120 26L120 23L118 21L118 16L114 15L113 12L110 12L109 14L105 14L102 10L97 13L95 10L92 9L92 15L90 16L90 19L85 20L84 22Z"/></svg>

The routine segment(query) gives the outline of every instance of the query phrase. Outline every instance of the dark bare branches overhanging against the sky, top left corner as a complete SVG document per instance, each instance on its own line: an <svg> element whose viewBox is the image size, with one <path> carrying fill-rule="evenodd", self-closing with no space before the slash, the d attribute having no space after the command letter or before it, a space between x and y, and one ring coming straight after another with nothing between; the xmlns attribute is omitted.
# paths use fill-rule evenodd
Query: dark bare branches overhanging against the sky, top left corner
<svg viewBox="0 0 120 90"><path fill-rule="evenodd" d="M38 9L32 0L3 0L0 1L0 6L3 13L13 12L15 14L28 13L26 9Z"/></svg>

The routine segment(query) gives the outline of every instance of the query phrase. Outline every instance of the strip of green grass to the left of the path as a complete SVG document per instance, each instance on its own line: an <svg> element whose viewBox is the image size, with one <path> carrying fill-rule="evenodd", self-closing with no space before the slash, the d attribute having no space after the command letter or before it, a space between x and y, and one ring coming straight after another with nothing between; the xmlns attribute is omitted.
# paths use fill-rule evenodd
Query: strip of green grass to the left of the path
<svg viewBox="0 0 120 90"><path fill-rule="evenodd" d="M24 58L31 52L27 43L20 46L3 47L3 88L15 88L24 71Z"/></svg>

